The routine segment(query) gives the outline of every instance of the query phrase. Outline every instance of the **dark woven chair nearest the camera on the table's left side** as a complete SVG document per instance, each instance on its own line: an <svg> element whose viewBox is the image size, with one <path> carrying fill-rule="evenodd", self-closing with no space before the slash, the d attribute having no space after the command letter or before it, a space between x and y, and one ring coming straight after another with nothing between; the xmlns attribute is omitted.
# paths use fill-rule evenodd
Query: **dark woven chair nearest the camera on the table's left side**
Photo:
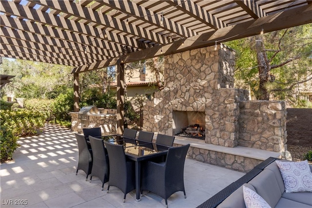
<svg viewBox="0 0 312 208"><path fill-rule="evenodd" d="M126 194L136 189L135 163L127 160L123 145L115 145L104 142L109 157L109 181L107 192L110 186L117 187L124 193L123 202Z"/></svg>

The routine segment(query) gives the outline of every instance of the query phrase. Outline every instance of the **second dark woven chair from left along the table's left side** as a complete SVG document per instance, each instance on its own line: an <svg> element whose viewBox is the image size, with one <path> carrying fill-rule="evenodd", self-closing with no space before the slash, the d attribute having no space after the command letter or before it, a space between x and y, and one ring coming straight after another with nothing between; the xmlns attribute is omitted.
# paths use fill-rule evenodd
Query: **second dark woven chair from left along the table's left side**
<svg viewBox="0 0 312 208"><path fill-rule="evenodd" d="M109 161L108 154L104 148L103 139L98 139L93 136L89 136L90 144L93 152L93 165L90 174L90 183L92 176L98 177L102 182L102 190L104 183L109 180Z"/></svg>

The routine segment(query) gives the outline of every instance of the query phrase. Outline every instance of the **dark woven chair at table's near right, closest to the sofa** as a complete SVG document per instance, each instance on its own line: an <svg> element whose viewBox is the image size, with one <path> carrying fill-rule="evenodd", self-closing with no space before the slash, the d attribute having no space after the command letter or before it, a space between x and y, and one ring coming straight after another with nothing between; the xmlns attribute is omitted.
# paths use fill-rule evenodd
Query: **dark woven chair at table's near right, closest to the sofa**
<svg viewBox="0 0 312 208"><path fill-rule="evenodd" d="M167 199L176 191L183 191L186 198L183 177L189 147L190 144L169 148L166 162L148 161L142 170L141 194L143 190L148 190L159 195L165 199L166 208L168 208Z"/></svg>

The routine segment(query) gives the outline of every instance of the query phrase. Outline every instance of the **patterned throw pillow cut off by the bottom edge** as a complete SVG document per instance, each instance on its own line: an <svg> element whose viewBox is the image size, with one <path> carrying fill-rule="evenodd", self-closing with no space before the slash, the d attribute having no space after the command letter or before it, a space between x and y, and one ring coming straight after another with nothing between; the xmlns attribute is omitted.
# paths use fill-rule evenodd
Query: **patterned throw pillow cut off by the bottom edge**
<svg viewBox="0 0 312 208"><path fill-rule="evenodd" d="M256 192L243 186L246 208L271 208L270 205Z"/></svg>

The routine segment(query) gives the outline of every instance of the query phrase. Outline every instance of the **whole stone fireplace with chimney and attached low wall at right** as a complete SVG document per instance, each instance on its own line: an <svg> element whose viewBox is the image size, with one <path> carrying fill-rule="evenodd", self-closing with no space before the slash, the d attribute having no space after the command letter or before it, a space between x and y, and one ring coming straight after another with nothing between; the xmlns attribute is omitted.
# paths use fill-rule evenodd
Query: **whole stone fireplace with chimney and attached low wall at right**
<svg viewBox="0 0 312 208"><path fill-rule="evenodd" d="M144 105L143 130L175 135L184 126L200 123L207 144L284 151L283 101L248 101L247 90L233 88L234 51L214 49L165 57L165 87Z"/></svg>

